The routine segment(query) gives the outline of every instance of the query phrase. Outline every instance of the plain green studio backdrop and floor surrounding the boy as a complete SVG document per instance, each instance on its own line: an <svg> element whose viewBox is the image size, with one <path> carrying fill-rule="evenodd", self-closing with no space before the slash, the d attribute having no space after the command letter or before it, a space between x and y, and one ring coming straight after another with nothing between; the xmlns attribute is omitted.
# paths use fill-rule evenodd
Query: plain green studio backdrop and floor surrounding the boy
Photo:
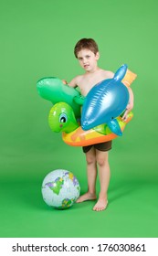
<svg viewBox="0 0 158 256"><path fill-rule="evenodd" d="M156 0L1 1L1 237L158 237L157 7ZM44 177L58 168L87 190L85 156L50 131L51 103L36 88L43 77L82 73L73 55L81 37L98 42L102 69L127 63L138 75L134 119L113 141L102 212L92 211L94 202L49 208L41 196Z"/></svg>

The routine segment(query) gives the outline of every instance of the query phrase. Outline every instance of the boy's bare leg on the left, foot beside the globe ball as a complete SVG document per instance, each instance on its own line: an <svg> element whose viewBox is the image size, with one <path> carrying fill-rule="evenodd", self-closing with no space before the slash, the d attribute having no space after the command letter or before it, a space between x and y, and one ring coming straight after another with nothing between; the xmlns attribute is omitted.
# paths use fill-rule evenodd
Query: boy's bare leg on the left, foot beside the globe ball
<svg viewBox="0 0 158 256"><path fill-rule="evenodd" d="M77 200L77 203L96 199L96 177L97 177L97 162L96 150L92 146L86 153L87 161L87 176L88 176L88 192Z"/></svg>

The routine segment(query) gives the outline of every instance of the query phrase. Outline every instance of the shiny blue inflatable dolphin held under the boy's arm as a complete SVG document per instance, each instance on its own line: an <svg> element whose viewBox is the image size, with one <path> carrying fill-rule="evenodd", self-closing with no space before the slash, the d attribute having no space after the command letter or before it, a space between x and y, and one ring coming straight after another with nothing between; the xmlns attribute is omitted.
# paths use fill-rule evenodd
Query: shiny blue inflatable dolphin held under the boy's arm
<svg viewBox="0 0 158 256"><path fill-rule="evenodd" d="M112 133L121 136L121 128L116 117L121 115L129 102L129 91L121 83L126 71L127 65L124 64L116 71L113 79L102 80L90 90L82 108L83 130L107 123Z"/></svg>

